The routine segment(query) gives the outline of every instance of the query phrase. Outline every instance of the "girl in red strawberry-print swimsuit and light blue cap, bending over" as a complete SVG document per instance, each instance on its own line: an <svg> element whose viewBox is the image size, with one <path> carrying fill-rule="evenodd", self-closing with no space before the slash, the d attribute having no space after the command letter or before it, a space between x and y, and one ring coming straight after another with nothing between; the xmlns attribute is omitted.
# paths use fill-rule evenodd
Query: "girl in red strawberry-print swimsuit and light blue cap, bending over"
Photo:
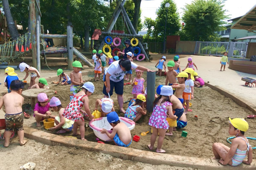
<svg viewBox="0 0 256 170"><path fill-rule="evenodd" d="M79 126L81 140L86 140L84 139L84 116L86 117L86 119L93 119L93 115L90 113L88 96L93 94L94 89L95 88L92 82L84 83L84 85L82 86L82 90L74 95L73 99L67 105L64 113L62 114L62 116L64 116L65 118L75 122L73 128L73 136L78 135L77 128ZM84 110L81 109L83 105ZM84 116L80 112L83 113Z"/></svg>

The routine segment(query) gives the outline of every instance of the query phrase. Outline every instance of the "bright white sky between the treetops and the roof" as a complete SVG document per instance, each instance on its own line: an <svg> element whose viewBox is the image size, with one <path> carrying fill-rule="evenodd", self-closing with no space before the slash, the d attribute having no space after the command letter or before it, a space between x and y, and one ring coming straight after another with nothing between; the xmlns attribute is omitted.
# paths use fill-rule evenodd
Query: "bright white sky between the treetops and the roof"
<svg viewBox="0 0 256 170"><path fill-rule="evenodd" d="M157 17L156 11L160 8L160 4L163 0L142 0L140 8L142 10L141 18L144 22L145 17L155 19ZM177 11L180 14L180 18L183 15L183 9L187 4L190 4L193 0L173 0L176 3ZM256 0L227 0L224 3L224 9L227 10L226 14L230 15L230 19L240 17L247 13L254 5Z"/></svg>

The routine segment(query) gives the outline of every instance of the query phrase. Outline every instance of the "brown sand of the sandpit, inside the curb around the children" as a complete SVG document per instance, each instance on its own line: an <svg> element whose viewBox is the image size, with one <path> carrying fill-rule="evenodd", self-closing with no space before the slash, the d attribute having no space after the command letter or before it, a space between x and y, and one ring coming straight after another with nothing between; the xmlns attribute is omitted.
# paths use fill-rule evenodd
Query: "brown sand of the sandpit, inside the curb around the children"
<svg viewBox="0 0 256 170"><path fill-rule="evenodd" d="M134 76L134 75L133 75ZM146 74L143 75L146 80ZM90 110L93 111L95 107L96 99L101 99L103 97L102 88L103 81L94 82L93 77L83 76L83 79L86 81L92 81L95 85L95 92L92 96L89 97ZM164 84L165 77L156 77L156 85ZM144 84L146 86L146 82ZM56 90L57 94L53 94L58 97L62 105L65 107L70 102L69 93L70 85L61 86L61 85L50 85L51 90ZM130 99L133 95L131 94L132 86L125 85L124 87L124 101ZM166 150L168 154L181 155L181 156L192 156L192 157L204 157L210 158L212 154L212 144L214 142L222 142L227 146L230 146L226 142L227 137L230 137L228 134L228 117L243 117L251 114L251 112L245 108L240 107L232 99L229 99L217 91L212 90L211 88L204 86L203 88L195 88L195 99L193 99L192 112L187 114L188 125L183 128L188 132L186 138L181 137L182 130L177 130L174 132L173 136L166 136L163 149ZM49 99L52 95L48 96ZM119 116L124 116L123 113L119 113L119 106L117 104L116 94L113 94L112 99L115 103L115 109ZM25 100L24 108L29 110L29 99ZM124 104L124 108L128 107L128 103ZM28 111L26 111L28 112ZM32 115L32 113L30 112ZM57 113L53 113L57 115ZM198 119L195 119L195 115L198 116ZM131 130L132 136L138 135L140 133L148 131L151 127L148 125L148 119L150 114L142 117L137 123L134 130ZM247 137L255 137L256 119L246 119L250 125L249 130L245 133ZM86 122L87 123L87 122ZM24 121L25 125L35 127L35 119L31 117ZM36 127L35 127L36 128ZM44 127L38 127L37 129L44 130ZM70 136L71 133L64 133L64 136ZM148 150L146 147L150 142L151 133L148 133L146 136L141 136L139 142L132 142L129 147L136 148L140 150ZM80 137L80 136L79 136ZM96 142L96 136L93 133L93 130L90 127L86 127L85 139ZM256 141L249 141L250 144L255 147ZM113 144L113 142L108 142L108 144ZM155 144L156 148L157 144ZM253 150L253 154L255 154Z"/></svg>

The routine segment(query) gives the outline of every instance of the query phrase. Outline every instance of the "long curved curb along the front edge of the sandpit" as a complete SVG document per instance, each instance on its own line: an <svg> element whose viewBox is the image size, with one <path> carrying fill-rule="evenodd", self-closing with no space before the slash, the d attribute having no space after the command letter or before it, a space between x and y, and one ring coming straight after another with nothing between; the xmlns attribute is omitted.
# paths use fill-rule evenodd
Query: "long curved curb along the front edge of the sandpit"
<svg viewBox="0 0 256 170"><path fill-rule="evenodd" d="M148 164L166 164L177 167L192 167L202 170L255 170L256 160L251 165L241 164L238 167L222 166L218 161L213 159L194 158L188 156L177 156L162 153L149 152L145 150L137 150L129 147L118 147L114 145L100 144L97 142L82 141L41 130L32 127L24 127L25 137L37 140L44 144L52 146L61 145L65 147L76 147L91 152L99 152L109 154L111 156L128 159L131 161L139 161ZM145 146L146 147L146 146Z"/></svg>

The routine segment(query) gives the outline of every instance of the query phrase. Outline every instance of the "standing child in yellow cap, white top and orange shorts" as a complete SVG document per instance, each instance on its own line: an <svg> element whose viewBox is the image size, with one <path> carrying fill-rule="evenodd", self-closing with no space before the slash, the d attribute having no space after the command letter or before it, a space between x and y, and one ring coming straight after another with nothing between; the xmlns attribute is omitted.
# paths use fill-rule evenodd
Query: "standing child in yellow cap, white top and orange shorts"
<svg viewBox="0 0 256 170"><path fill-rule="evenodd" d="M186 68L185 72L188 74L188 78L185 81L185 89L182 94L182 98L184 99L183 106L186 102L186 111L185 114L188 113L189 110L189 100L194 99L194 70L192 68Z"/></svg>

